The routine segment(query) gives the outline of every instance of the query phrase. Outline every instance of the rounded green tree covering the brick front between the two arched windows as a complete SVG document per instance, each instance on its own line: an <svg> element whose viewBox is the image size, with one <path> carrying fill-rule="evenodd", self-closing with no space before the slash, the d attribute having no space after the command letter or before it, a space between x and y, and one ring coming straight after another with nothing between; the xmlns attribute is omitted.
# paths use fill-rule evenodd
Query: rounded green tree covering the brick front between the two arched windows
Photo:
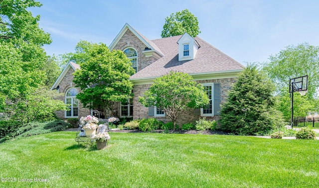
<svg viewBox="0 0 319 188"><path fill-rule="evenodd" d="M129 78L135 70L122 51L111 52L105 44L91 44L85 56L89 58L74 72L73 80L83 91L76 97L84 107L102 107L107 114L113 102L131 98L133 83Z"/></svg>

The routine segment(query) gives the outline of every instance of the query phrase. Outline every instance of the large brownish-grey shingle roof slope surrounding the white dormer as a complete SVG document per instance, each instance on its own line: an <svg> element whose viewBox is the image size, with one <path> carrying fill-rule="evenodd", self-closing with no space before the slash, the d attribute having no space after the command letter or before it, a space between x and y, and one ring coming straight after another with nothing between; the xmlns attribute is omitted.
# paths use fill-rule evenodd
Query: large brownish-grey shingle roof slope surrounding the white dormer
<svg viewBox="0 0 319 188"><path fill-rule="evenodd" d="M179 71L195 75L241 70L244 68L242 64L220 52L199 37L194 38L200 45L195 58L189 61L178 61L177 41L180 37L181 35L152 40L160 48L164 57L132 75L131 80L160 77L168 74L169 71Z"/></svg>

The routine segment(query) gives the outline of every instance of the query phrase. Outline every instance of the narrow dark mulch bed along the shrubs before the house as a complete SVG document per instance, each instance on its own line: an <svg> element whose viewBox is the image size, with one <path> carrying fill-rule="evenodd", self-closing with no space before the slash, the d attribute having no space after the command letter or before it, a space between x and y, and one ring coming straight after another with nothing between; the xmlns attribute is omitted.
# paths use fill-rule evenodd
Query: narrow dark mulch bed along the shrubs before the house
<svg viewBox="0 0 319 188"><path fill-rule="evenodd" d="M124 133L145 133L142 130L112 130L112 132L124 132ZM228 132L224 132L221 130L168 130L166 132L165 129L158 129L152 131L154 133L175 133L175 134L221 134L228 135Z"/></svg>

